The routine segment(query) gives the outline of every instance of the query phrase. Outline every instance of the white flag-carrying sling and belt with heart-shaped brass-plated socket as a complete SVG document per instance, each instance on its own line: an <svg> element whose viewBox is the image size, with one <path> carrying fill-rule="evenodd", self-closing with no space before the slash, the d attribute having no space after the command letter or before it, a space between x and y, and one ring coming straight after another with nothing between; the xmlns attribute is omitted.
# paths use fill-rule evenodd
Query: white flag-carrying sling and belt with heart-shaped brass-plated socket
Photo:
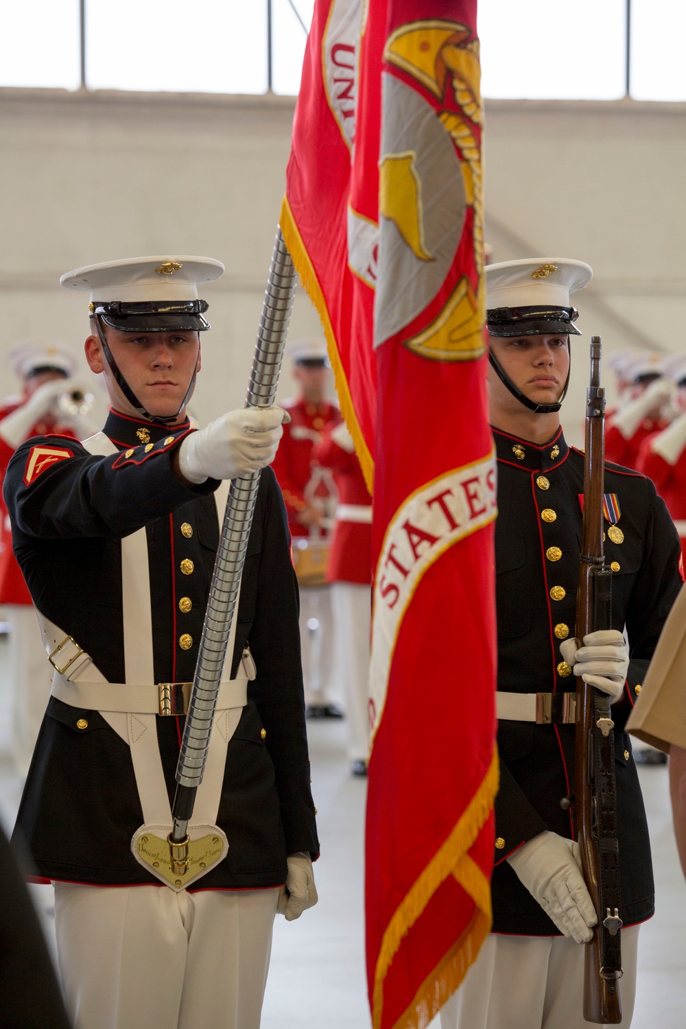
<svg viewBox="0 0 686 1029"><path fill-rule="evenodd" d="M116 448L102 432L86 439L82 446L91 454L116 454ZM223 483L215 493L220 520L228 486L228 483ZM121 540L121 593L124 683L108 682L89 655L38 612L43 642L56 669L51 691L73 707L99 711L129 744L143 810L143 825L134 833L132 852L148 872L179 891L207 875L228 852L228 841L216 820L226 750L247 703L248 680L254 678L254 665L249 652L246 652L240 666L240 677L221 681L203 782L197 789L193 818L188 826L188 871L179 877L172 873L169 858L167 837L172 829L172 811L159 756L156 716L185 713L189 686L187 683L154 684L145 528ZM233 652L234 639L236 619L228 641L229 655Z"/></svg>

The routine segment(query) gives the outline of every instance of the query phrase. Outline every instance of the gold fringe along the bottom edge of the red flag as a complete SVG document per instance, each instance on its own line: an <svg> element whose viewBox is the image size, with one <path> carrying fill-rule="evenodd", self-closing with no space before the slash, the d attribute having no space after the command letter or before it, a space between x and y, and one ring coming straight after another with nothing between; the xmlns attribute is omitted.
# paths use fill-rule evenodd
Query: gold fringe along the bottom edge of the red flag
<svg viewBox="0 0 686 1029"><path fill-rule="evenodd" d="M407 1009L393 1029L426 1029L448 997L455 993L491 930L491 888L486 876L467 853L493 810L498 792L499 762L494 753L491 767L469 806L445 843L413 884L394 913L384 933L374 973L372 1027L381 1029L384 981L403 937L448 876L454 876L473 899L475 912L460 938L424 981Z"/></svg>

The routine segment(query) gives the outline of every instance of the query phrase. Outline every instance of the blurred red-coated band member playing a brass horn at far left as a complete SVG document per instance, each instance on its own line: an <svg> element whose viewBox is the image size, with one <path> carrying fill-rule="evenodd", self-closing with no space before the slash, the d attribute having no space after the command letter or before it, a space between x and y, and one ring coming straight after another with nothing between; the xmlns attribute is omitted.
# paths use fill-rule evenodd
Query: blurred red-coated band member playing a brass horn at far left
<svg viewBox="0 0 686 1029"><path fill-rule="evenodd" d="M76 360L59 347L19 347L10 355L22 395L6 397L0 405L0 487L9 460L25 439L37 435L76 438L84 427L78 414L61 406L77 388L70 377ZM80 391L82 386L78 386ZM89 423L87 423L89 426ZM92 429L84 427L83 435ZM9 678L12 688L12 756L16 771L26 776L38 730L50 693L45 651L31 597L12 551L9 518L0 495L0 604L9 623Z"/></svg>

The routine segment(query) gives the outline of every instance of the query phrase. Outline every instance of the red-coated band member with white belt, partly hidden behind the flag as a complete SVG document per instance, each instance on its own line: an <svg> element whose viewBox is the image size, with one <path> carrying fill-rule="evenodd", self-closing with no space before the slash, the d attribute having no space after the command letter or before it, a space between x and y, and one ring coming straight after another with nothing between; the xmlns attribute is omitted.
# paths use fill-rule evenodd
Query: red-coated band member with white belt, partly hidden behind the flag
<svg viewBox="0 0 686 1029"><path fill-rule="evenodd" d="M327 426L313 461L330 468L338 491L327 579L333 608L333 653L348 714L353 775L367 774L371 616L371 497L345 422Z"/></svg>

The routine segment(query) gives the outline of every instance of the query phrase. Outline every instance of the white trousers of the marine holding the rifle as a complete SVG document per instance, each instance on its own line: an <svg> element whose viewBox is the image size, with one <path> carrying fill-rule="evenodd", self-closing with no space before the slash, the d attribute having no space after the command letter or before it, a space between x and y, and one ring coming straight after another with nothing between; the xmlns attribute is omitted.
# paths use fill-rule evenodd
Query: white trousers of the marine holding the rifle
<svg viewBox="0 0 686 1029"><path fill-rule="evenodd" d="M622 929L622 1029L634 1016L639 926ZM441 1029L589 1029L583 1018L584 947L566 936L491 933L440 1012Z"/></svg>

